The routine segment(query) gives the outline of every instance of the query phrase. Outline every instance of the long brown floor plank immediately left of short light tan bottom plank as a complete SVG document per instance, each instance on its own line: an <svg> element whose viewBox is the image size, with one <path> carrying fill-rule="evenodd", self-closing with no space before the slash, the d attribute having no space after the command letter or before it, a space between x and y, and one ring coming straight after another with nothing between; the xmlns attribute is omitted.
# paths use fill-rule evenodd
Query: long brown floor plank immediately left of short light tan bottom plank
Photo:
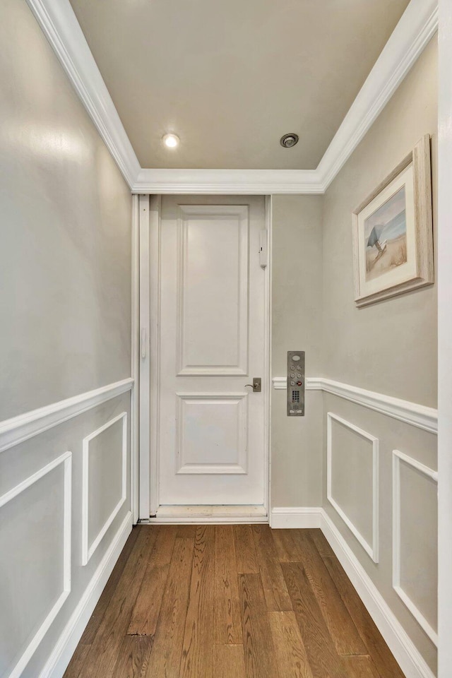
<svg viewBox="0 0 452 678"><path fill-rule="evenodd" d="M246 678L278 678L261 577L239 574L239 594Z"/></svg>

